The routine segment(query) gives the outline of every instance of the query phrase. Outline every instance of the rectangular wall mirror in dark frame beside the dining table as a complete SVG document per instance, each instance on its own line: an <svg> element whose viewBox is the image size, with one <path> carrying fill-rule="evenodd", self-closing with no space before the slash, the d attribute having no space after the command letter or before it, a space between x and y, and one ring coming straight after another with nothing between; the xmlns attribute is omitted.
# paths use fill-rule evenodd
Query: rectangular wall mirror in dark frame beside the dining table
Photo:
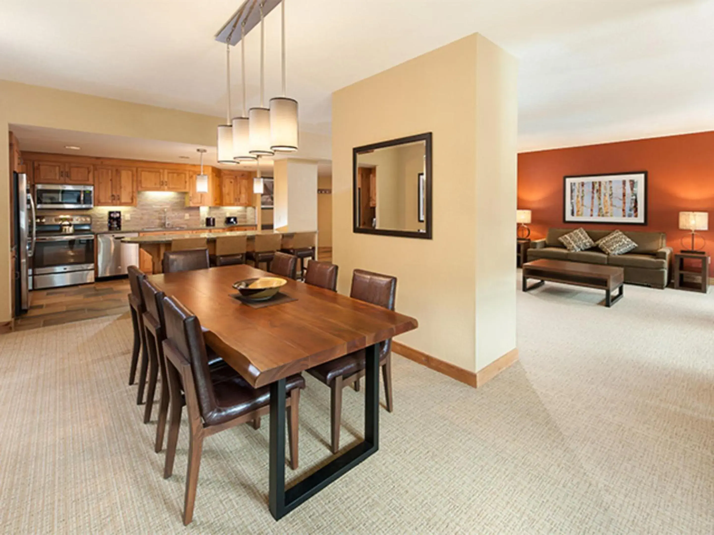
<svg viewBox="0 0 714 535"><path fill-rule="evenodd" d="M352 150L353 231L431 240L431 132Z"/></svg>

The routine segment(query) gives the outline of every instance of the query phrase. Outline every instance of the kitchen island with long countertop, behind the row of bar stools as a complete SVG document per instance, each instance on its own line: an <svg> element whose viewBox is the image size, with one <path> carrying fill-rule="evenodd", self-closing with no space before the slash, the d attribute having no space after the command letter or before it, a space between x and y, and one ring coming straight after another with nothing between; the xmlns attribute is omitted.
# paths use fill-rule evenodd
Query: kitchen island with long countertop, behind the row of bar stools
<svg viewBox="0 0 714 535"><path fill-rule="evenodd" d="M315 247L317 248L317 231L301 230L302 232L315 233ZM252 251L255 237L258 234L280 234L283 236L283 248L290 247L290 238L296 233L288 230L212 230L202 232L201 230L193 230L186 232L184 230L171 230L167 228L161 232L140 233L139 236L124 238L122 243L136 243L139 245L139 267L145 273L161 273L161 260L164 259L164 253L171 250L171 241L181 238L206 238L208 243L208 254L213 254L216 248L216 238L222 236L247 236L248 250Z"/></svg>

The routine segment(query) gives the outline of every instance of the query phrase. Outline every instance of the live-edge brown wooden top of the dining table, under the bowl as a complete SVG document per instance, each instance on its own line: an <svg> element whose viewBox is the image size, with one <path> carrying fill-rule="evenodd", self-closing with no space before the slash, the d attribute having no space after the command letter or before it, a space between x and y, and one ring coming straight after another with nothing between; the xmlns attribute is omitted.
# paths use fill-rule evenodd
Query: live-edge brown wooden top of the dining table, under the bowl
<svg viewBox="0 0 714 535"><path fill-rule="evenodd" d="M253 387L383 342L417 327L412 317L330 290L286 279L296 301L243 305L233 282L276 277L248 265L149 276L201 321L206 343Z"/></svg>

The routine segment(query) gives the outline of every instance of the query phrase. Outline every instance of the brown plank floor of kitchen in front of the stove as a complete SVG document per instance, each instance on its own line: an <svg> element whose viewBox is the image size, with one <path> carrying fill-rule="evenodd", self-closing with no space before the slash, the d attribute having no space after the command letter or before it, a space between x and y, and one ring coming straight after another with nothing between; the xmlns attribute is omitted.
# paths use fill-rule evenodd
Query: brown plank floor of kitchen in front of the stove
<svg viewBox="0 0 714 535"><path fill-rule="evenodd" d="M126 278L81 286L36 290L30 293L30 310L15 320L14 330L111 316L129 311L129 280Z"/></svg>

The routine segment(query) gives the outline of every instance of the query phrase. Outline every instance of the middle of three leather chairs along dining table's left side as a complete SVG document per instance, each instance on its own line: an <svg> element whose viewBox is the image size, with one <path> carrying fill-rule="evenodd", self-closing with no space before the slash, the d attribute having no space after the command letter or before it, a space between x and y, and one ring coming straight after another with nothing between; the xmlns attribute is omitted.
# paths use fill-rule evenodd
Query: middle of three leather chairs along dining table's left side
<svg viewBox="0 0 714 535"><path fill-rule="evenodd" d="M149 348L149 390L146 394L146 409L144 423L149 423L151 410L154 405L154 392L156 391L156 368L161 372L161 394L159 397L159 422L156 426L156 444L154 451L161 452L164 447L164 433L166 432L166 414L169 411L169 379L166 375L166 359L164 357L164 340L166 340L166 322L164 321L164 292L154 286L149 279L141 280L141 292L144 295L144 336L146 346ZM208 351L208 367L213 374L232 375L233 369L226 362ZM183 402L183 400L182 400Z"/></svg>

